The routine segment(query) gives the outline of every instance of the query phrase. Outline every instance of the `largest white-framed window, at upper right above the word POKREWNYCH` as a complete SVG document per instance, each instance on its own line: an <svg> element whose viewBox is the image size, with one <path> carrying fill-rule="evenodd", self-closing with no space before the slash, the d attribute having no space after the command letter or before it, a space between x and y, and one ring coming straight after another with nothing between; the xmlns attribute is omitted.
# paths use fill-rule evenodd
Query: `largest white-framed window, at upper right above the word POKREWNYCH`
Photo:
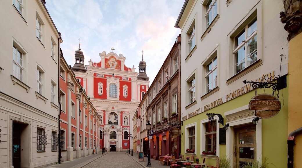
<svg viewBox="0 0 302 168"><path fill-rule="evenodd" d="M234 39L235 74L257 61L257 19L246 24Z"/></svg>

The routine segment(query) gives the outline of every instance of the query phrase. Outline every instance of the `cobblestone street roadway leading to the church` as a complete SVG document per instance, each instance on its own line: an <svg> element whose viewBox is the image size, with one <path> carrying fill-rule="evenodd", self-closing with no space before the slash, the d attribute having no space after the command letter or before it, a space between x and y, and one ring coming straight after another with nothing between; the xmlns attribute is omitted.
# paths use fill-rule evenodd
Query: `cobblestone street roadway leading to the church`
<svg viewBox="0 0 302 168"><path fill-rule="evenodd" d="M84 167L104 167L104 168L115 168L115 167L123 167L123 168L142 168L139 163L130 158L128 154L125 152L108 152L108 154L104 155L96 159L95 161L87 164Z"/></svg>

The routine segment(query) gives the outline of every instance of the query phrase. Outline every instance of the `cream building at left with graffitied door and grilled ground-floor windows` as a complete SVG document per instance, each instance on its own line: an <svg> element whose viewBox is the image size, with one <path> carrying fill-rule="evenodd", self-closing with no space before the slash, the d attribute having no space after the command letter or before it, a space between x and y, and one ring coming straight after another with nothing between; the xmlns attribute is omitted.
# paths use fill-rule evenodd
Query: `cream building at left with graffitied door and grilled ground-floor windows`
<svg viewBox="0 0 302 168"><path fill-rule="evenodd" d="M44 0L0 4L0 167L54 164L63 41Z"/></svg>

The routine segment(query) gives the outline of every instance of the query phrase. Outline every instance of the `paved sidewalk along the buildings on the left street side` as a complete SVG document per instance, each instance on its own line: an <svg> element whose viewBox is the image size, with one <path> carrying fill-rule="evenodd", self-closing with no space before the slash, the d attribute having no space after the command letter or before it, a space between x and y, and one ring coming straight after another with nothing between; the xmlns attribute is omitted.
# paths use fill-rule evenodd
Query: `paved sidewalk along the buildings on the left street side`
<svg viewBox="0 0 302 168"><path fill-rule="evenodd" d="M100 152L100 153L97 153L97 154L88 155L86 157L81 157L81 158L78 158L78 159L65 161L65 162L62 162L61 164L55 164L55 165L47 166L47 168L83 167L83 166L86 166L88 163L91 163L94 160L104 156L105 154L108 154L108 153L104 153L102 155L102 152Z"/></svg>

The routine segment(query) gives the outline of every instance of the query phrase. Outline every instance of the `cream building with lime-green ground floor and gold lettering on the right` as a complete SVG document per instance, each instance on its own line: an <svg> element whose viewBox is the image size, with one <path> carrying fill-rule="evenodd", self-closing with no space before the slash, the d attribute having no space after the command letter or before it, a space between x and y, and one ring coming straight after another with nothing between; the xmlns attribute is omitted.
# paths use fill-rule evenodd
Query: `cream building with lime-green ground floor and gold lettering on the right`
<svg viewBox="0 0 302 168"><path fill-rule="evenodd" d="M288 33L279 21L282 9L282 1L185 1L175 24L185 41L181 45L185 157L206 158L208 165L229 157L233 167L268 158L267 163L286 167L288 87L272 92L243 83L275 83L280 78L288 86ZM251 98L264 93L281 102L277 115L268 119L249 107ZM253 119L259 119L258 124L252 124Z"/></svg>

